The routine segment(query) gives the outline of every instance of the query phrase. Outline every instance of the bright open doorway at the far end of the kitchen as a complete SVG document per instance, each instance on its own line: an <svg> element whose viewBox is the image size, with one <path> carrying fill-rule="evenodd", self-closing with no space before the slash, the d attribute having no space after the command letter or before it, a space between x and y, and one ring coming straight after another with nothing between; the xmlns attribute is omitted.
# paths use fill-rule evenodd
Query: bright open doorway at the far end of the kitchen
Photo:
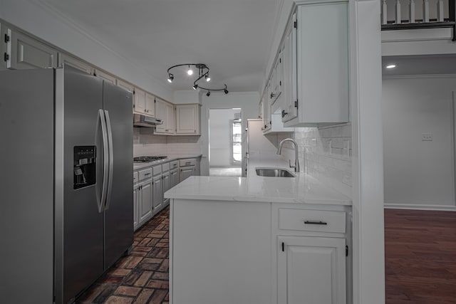
<svg viewBox="0 0 456 304"><path fill-rule="evenodd" d="M242 112L209 109L209 176L241 177Z"/></svg>

